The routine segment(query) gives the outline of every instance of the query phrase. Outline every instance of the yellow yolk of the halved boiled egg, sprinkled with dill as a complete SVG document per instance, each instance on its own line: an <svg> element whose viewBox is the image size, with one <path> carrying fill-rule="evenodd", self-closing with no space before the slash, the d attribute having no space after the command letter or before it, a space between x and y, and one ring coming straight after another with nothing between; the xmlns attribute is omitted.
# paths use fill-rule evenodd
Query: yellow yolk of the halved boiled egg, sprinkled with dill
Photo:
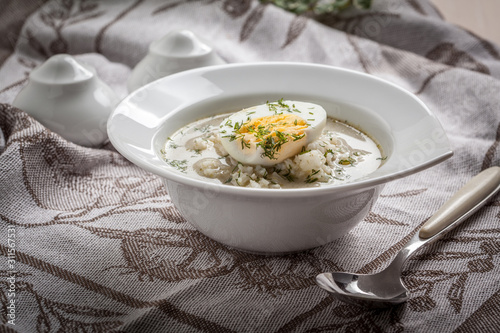
<svg viewBox="0 0 500 333"><path fill-rule="evenodd" d="M244 123L238 130L242 135L242 148L251 142L262 147L264 155L276 159L281 146L290 141L306 137L307 122L292 114L279 114L254 118Z"/></svg>

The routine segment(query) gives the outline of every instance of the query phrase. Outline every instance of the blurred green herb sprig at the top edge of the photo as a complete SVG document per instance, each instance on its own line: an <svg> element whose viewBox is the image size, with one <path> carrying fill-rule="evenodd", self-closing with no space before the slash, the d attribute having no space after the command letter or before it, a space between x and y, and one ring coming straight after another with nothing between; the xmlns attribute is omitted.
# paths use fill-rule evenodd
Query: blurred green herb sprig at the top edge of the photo
<svg viewBox="0 0 500 333"><path fill-rule="evenodd" d="M344 9L355 7L369 9L372 0L260 0L272 3L289 12L301 15L307 12L314 14L338 13Z"/></svg>

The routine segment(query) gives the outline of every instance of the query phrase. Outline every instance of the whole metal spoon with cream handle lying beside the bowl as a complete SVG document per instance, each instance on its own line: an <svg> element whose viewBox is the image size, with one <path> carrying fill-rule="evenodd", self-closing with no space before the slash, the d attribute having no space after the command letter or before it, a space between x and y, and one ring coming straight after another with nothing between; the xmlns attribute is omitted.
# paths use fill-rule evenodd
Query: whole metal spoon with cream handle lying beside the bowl
<svg viewBox="0 0 500 333"><path fill-rule="evenodd" d="M377 274L321 273L316 283L341 301L369 307L405 302L408 290L401 282L405 261L424 244L435 241L466 220L500 190L500 167L486 169L455 193Z"/></svg>

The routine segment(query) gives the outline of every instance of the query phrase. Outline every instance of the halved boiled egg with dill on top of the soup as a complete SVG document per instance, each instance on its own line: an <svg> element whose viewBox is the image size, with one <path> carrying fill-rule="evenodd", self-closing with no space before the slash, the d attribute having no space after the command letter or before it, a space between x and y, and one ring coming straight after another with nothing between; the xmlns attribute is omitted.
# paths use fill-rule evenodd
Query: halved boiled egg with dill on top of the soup
<svg viewBox="0 0 500 333"><path fill-rule="evenodd" d="M283 99L236 112L220 124L223 147L243 164L272 166L297 155L326 124L321 106Z"/></svg>

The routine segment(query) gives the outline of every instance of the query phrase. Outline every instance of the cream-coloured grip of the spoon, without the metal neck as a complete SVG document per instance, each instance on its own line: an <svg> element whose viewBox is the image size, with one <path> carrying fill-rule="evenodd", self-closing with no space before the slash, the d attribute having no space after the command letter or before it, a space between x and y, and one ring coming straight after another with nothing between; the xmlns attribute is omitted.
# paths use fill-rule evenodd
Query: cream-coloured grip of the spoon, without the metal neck
<svg viewBox="0 0 500 333"><path fill-rule="evenodd" d="M436 236L444 229L446 232L460 224L481 208L500 190L500 167L494 166L473 177L420 229L420 238Z"/></svg>

